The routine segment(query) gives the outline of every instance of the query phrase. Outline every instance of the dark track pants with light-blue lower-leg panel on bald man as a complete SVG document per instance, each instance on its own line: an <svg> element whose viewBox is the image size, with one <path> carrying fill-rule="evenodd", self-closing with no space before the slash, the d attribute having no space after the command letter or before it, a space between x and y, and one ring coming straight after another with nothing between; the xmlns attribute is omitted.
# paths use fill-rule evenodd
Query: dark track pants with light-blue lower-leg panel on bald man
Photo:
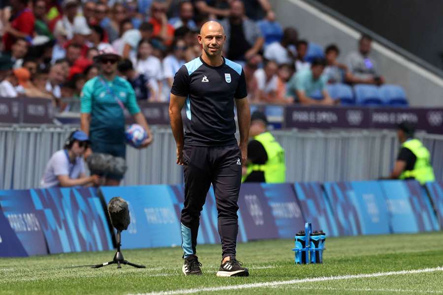
<svg viewBox="0 0 443 295"><path fill-rule="evenodd" d="M185 207L182 210L181 223L185 257L196 253L200 212L211 183L217 204L222 256L235 256L238 233L237 200L242 178L239 147L185 146L183 157Z"/></svg>

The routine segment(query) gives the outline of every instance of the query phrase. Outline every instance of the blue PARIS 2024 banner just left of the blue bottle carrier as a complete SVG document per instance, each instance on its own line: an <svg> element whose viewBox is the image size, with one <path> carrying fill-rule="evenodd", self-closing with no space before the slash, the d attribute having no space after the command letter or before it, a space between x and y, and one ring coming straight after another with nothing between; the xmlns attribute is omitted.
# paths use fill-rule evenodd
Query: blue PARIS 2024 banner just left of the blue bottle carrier
<svg viewBox="0 0 443 295"><path fill-rule="evenodd" d="M260 185L271 208L279 237L293 238L299 230L305 228L305 223L292 185L290 183Z"/></svg>

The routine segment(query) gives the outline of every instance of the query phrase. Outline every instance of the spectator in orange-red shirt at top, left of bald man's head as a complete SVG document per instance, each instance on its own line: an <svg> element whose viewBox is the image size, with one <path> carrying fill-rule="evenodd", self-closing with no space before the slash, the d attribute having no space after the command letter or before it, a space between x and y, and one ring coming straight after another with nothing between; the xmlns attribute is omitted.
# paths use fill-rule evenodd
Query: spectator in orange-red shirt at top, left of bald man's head
<svg viewBox="0 0 443 295"><path fill-rule="evenodd" d="M149 23L153 25L153 37L160 37L167 46L172 44L174 27L168 23L166 4L164 2L158 0L152 2Z"/></svg>

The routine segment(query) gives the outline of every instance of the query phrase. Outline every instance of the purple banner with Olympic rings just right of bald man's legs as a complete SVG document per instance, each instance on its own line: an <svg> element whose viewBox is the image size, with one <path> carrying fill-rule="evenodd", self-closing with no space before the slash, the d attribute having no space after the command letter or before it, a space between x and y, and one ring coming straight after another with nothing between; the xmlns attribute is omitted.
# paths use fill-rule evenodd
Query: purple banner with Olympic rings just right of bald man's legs
<svg viewBox="0 0 443 295"><path fill-rule="evenodd" d="M259 183L242 184L238 206L248 240L279 237L271 207Z"/></svg>

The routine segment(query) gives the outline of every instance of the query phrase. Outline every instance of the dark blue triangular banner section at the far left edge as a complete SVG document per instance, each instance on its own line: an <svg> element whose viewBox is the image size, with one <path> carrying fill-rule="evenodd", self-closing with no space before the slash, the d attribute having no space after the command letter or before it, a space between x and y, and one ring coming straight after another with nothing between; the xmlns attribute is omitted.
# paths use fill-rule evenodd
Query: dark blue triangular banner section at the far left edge
<svg viewBox="0 0 443 295"><path fill-rule="evenodd" d="M25 248L0 209L0 257L26 257Z"/></svg>

